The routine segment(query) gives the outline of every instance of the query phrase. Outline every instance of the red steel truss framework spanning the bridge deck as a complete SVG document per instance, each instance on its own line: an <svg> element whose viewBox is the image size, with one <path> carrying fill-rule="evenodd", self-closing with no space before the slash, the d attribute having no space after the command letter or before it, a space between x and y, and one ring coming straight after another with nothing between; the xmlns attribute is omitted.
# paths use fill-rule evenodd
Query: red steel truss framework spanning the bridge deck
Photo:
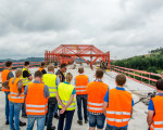
<svg viewBox="0 0 163 130"><path fill-rule="evenodd" d="M90 57L90 61L86 57ZM90 67L100 60L106 62L110 68L110 52L104 53L92 44L61 44L52 51L45 52L46 63L73 63L77 58L84 60Z"/></svg>

